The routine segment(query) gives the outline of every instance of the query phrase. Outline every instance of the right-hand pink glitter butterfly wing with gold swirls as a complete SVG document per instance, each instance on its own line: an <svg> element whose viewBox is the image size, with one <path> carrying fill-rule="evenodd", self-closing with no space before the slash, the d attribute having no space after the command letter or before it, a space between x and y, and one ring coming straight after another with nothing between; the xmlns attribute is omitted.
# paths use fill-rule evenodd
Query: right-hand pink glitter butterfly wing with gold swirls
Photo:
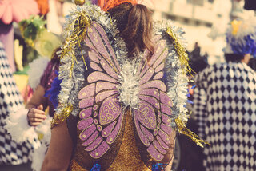
<svg viewBox="0 0 256 171"><path fill-rule="evenodd" d="M145 52L146 55L148 52ZM170 145L172 101L166 94L164 78L165 59L168 50L165 41L158 41L150 65L138 66L139 99L138 109L134 109L134 124L138 137L154 161L162 161ZM144 60L145 61L145 60Z"/></svg>

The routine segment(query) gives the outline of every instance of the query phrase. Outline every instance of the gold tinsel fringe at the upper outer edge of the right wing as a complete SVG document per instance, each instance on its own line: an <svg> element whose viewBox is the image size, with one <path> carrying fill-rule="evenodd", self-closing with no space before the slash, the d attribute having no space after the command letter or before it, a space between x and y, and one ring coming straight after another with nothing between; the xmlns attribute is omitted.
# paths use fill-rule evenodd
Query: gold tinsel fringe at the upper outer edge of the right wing
<svg viewBox="0 0 256 171"><path fill-rule="evenodd" d="M182 69L183 69L184 74L189 72L190 75L192 75L192 72L194 72L194 71L189 66L189 62L188 62L189 58L188 58L188 55L186 54L186 50L180 43L180 40L178 39L174 30L172 30L171 26L167 27L166 33L169 34L170 38L174 41L174 48L175 48L175 50L178 54L178 58L182 64Z"/></svg>

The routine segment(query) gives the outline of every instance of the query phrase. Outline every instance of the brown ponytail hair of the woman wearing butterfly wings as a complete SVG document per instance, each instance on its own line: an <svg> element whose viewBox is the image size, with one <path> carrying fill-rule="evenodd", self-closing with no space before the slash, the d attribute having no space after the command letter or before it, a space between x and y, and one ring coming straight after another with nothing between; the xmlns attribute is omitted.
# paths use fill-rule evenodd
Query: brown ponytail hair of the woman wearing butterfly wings
<svg viewBox="0 0 256 171"><path fill-rule="evenodd" d="M121 21L118 20L119 16L116 14L118 10L115 8L120 9L120 13L125 16L122 16ZM150 51L150 56L154 54L152 12L146 6L123 3L114 7L113 10L110 9L109 13L118 22L118 30L126 42L129 57L133 57L134 54L138 55L141 50L145 49Z"/></svg>

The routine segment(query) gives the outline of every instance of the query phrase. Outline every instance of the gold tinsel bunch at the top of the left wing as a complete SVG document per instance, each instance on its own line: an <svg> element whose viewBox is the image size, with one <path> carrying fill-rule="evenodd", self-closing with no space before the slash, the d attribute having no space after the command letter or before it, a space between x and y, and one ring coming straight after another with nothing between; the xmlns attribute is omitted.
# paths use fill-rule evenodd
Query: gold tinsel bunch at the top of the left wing
<svg viewBox="0 0 256 171"><path fill-rule="evenodd" d="M79 12L77 17L74 19L74 22L70 22L69 26L66 26L66 29L64 32L70 32L72 31L72 34L69 36L69 38L66 38L66 41L63 45L63 50L61 54L61 58L63 58L66 54L72 55L72 64L71 64L71 70L70 70L70 77L72 75L74 62L76 62L75 53L74 53L74 47L80 46L82 40L86 38L86 31L91 25L91 19L90 16L85 14L84 11ZM83 61L84 57L82 55ZM86 66L86 63L85 63Z"/></svg>

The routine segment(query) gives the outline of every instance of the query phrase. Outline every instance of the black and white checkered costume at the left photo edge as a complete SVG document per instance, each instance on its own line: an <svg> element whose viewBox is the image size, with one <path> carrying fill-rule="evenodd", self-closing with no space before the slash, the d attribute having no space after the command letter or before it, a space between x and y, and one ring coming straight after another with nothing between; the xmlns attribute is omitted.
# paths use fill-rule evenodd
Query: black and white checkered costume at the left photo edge
<svg viewBox="0 0 256 171"><path fill-rule="evenodd" d="M0 42L0 165L20 165L29 161L32 146L29 143L18 144L12 141L3 128L3 120L10 112L22 108L22 104L22 96L18 92L6 52Z"/></svg>

